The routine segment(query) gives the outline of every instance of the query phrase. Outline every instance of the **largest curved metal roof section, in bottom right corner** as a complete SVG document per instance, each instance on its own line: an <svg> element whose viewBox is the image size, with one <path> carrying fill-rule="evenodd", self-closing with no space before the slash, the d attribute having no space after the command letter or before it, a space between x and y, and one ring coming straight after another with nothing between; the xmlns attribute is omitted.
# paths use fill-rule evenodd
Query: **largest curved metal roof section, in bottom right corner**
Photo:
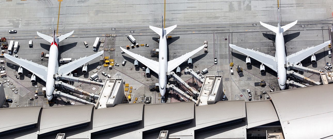
<svg viewBox="0 0 333 139"><path fill-rule="evenodd" d="M333 135L333 85L269 93L287 139L319 139Z"/></svg>

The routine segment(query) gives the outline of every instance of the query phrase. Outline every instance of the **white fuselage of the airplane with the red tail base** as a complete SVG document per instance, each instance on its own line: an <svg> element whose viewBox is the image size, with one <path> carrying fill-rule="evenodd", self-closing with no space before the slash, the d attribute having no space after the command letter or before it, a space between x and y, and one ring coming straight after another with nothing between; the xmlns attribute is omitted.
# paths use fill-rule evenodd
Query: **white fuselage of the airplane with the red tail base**
<svg viewBox="0 0 333 139"><path fill-rule="evenodd" d="M51 44L49 51L49 61L47 66L47 77L46 77L46 97L49 101L53 98L53 92L55 90L53 75L57 73L58 65L58 44Z"/></svg>

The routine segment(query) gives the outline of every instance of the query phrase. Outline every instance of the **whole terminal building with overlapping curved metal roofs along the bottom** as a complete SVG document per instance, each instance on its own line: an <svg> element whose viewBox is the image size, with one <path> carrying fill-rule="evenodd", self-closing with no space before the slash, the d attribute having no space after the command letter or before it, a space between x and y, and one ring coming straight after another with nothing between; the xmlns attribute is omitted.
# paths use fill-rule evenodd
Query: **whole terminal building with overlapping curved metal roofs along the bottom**
<svg viewBox="0 0 333 139"><path fill-rule="evenodd" d="M0 139L330 139L332 89L327 84L271 92L266 101L199 106L179 102L98 109L93 104L1 108Z"/></svg>

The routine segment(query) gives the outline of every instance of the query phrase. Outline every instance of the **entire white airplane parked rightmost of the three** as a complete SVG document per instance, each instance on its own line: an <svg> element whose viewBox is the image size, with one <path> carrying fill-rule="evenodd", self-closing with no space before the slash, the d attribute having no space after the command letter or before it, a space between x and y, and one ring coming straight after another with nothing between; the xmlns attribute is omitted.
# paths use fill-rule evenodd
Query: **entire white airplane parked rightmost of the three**
<svg viewBox="0 0 333 139"><path fill-rule="evenodd" d="M274 32L276 34L275 36L275 57L274 56L270 56L268 54L264 54L261 53L259 51L255 51L253 49L244 49L241 47L238 47L236 45L233 44L229 44L229 46L245 55L247 55L246 58L246 65L250 65L251 64L251 58L261 62L260 65L260 71L261 72L265 72L265 66L271 68L272 70L274 70L277 73L277 80L279 83L279 87L281 90L285 89L285 83L287 81L287 77L286 77L286 69L284 67L284 64L286 63L294 63L294 64L298 64L300 63L303 59L307 58L308 56L311 56L311 62L315 63L316 62L316 56L315 56L315 52L319 51L320 49L326 47L331 41L326 41L322 44L319 44L317 46L312 46L312 47L308 47L306 49L303 49L299 52L293 53L289 56L286 56L285 53L285 48L284 48L284 38L283 38L283 32L287 31L288 29L290 29L292 26L297 24L297 20L295 22L292 22L288 25L285 26L280 26L280 9L278 8L278 24L277 27L265 24L260 22L260 24L262 26L264 26L265 28L271 30L272 32ZM301 65L301 64L300 64Z"/></svg>

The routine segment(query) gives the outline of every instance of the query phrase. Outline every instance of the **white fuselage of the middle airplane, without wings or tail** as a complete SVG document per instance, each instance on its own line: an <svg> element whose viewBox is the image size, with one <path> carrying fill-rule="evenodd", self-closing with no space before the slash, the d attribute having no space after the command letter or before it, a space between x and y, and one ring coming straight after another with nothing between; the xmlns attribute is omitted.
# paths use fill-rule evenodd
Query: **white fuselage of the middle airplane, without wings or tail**
<svg viewBox="0 0 333 139"><path fill-rule="evenodd" d="M166 72L167 72L167 43L166 35L160 37L159 44L159 90L161 96L166 94Z"/></svg>

